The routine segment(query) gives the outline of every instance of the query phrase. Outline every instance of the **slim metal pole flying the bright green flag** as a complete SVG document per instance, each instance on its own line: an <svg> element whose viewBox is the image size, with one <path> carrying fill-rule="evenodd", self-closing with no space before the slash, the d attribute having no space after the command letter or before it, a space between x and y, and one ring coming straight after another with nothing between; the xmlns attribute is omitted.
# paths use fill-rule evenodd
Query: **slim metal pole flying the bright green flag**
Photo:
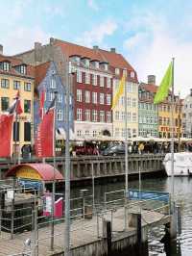
<svg viewBox="0 0 192 256"><path fill-rule="evenodd" d="M174 199L174 61L172 59L172 102L171 102L171 192L172 200ZM172 204L173 205L173 204Z"/></svg>

